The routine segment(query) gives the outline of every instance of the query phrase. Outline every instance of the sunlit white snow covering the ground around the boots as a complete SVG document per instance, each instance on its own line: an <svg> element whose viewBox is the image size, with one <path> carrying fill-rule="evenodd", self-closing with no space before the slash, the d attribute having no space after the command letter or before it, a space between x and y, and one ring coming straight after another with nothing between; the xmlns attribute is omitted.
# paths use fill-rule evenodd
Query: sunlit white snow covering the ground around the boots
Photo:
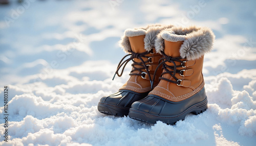
<svg viewBox="0 0 256 146"><path fill-rule="evenodd" d="M0 145L255 145L255 1L10 2L0 6ZM208 110L174 126L99 113L129 79L127 65L112 81L123 31L156 22L214 31Z"/></svg>

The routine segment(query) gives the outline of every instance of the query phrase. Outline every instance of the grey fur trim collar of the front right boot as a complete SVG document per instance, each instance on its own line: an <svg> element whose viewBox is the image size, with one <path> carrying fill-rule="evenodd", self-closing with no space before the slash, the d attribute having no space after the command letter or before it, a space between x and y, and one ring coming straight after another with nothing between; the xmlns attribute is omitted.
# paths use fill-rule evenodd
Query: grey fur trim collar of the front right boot
<svg viewBox="0 0 256 146"><path fill-rule="evenodd" d="M158 34L156 40L156 51L158 53L164 50L164 40L184 41L180 47L180 56L187 60L195 60L211 51L215 35L209 28L196 26L173 27L172 29L163 30Z"/></svg>

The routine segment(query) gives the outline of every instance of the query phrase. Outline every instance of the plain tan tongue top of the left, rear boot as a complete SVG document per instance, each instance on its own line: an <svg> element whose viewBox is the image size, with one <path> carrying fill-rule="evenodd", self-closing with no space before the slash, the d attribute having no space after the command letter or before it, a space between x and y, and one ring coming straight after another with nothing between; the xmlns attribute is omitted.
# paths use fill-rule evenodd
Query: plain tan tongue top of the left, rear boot
<svg viewBox="0 0 256 146"><path fill-rule="evenodd" d="M134 53L143 53L146 51L144 48L144 38L145 35L129 37L131 48Z"/></svg>

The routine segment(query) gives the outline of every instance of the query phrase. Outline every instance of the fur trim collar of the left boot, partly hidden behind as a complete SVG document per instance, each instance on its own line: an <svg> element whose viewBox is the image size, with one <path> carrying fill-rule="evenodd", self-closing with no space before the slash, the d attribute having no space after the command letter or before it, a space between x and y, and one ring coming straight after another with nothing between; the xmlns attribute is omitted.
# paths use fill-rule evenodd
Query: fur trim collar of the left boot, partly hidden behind
<svg viewBox="0 0 256 146"><path fill-rule="evenodd" d="M164 28L172 28L172 25L148 25L145 28L137 28L137 29L126 29L124 31L124 35L121 37L119 41L119 46L123 48L124 52L127 53L131 50L131 45L129 41L129 37L145 35L144 38L144 46L146 51L151 51L152 48L155 47L155 40L157 38L157 34Z"/></svg>

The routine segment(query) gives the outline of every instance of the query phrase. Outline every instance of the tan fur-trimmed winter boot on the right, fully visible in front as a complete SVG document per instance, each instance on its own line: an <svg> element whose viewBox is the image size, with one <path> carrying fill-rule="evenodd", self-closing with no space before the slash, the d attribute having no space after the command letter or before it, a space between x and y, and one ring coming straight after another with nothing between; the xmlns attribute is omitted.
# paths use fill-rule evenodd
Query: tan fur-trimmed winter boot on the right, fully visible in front
<svg viewBox="0 0 256 146"><path fill-rule="evenodd" d="M188 113L205 111L203 59L214 39L208 28L173 27L171 31L160 32L156 40L156 51L163 55L160 82L143 100L132 104L129 117L173 125Z"/></svg>

